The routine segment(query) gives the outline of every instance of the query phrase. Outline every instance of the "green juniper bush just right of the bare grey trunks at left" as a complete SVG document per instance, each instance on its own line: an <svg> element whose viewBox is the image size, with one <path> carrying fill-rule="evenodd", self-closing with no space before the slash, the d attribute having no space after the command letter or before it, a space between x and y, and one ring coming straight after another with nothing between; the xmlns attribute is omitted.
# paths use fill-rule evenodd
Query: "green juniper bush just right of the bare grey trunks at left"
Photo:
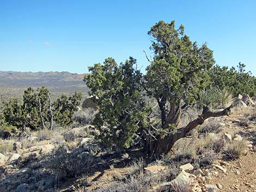
<svg viewBox="0 0 256 192"><path fill-rule="evenodd" d="M80 106L82 101L81 92L75 92L74 95L68 97L61 95L53 102L54 121L65 127L72 122L72 116L77 111L77 106Z"/></svg>

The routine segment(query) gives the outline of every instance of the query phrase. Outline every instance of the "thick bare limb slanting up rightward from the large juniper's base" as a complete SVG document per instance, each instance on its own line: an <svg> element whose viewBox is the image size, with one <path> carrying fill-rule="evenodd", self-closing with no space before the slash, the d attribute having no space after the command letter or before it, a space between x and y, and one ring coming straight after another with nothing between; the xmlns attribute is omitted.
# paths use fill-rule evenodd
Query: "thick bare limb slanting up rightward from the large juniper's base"
<svg viewBox="0 0 256 192"><path fill-rule="evenodd" d="M187 124L187 126L178 129L175 133L169 133L166 135L166 137L161 138L161 135L159 135L153 142L150 153L151 156L160 157L162 154L167 154L173 145L181 138L186 137L187 133L190 132L193 128L197 127L198 125L202 125L204 123L204 120L208 119L209 117L219 117L223 115L228 115L230 112L230 109L233 107L233 105L229 106L228 108L225 108L221 112L211 112L209 108L204 107L203 112L201 115L197 117L197 119L191 121ZM177 112L177 110L176 110ZM177 112L178 113L178 112ZM176 117L177 115L172 115ZM174 120L176 122L176 120Z"/></svg>

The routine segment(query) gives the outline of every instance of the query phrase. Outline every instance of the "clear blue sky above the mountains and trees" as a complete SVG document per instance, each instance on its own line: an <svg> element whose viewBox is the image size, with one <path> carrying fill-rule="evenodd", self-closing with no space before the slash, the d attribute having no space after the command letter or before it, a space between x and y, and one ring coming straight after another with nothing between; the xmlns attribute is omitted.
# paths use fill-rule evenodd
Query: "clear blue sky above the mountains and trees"
<svg viewBox="0 0 256 192"><path fill-rule="evenodd" d="M148 30L159 20L214 50L216 63L240 61L256 74L256 1L0 0L0 70L88 72L107 57L142 67Z"/></svg>

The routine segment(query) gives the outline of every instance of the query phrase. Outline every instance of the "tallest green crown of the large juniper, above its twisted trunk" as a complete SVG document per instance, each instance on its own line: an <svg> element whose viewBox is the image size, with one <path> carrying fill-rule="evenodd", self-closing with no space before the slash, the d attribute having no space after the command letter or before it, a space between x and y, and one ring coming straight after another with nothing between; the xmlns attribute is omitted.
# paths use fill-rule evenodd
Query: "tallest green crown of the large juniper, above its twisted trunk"
<svg viewBox="0 0 256 192"><path fill-rule="evenodd" d="M175 29L174 21L160 21L148 34L154 51L145 76L149 94L170 103L181 99L188 104L196 102L199 92L210 83L207 71L215 63L212 51L206 44L198 47L191 42L182 25Z"/></svg>

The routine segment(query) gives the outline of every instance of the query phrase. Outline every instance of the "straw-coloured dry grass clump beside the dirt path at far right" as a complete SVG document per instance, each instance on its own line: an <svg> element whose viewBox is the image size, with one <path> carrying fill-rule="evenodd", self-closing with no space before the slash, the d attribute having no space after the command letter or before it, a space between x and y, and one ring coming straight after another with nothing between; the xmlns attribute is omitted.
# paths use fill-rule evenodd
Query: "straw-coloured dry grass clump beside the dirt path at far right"
<svg viewBox="0 0 256 192"><path fill-rule="evenodd" d="M227 159L237 159L245 152L247 149L246 142L244 140L241 141L232 141L229 145L226 145L224 148L224 158Z"/></svg>

